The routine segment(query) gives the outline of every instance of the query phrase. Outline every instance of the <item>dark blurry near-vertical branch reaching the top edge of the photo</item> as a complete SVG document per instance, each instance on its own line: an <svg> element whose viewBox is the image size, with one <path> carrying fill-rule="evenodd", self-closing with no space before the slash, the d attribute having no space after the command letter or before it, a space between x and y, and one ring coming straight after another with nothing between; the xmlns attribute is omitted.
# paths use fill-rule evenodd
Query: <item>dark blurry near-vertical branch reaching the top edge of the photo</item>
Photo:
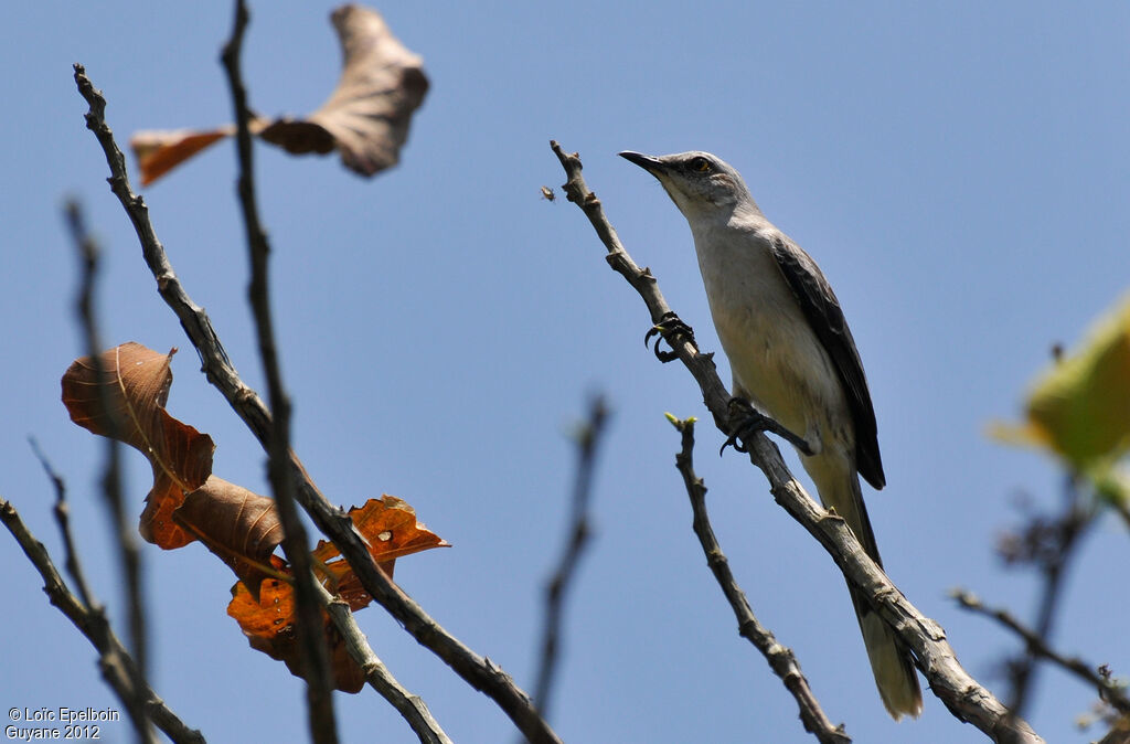
<svg viewBox="0 0 1130 744"><path fill-rule="evenodd" d="M290 400L282 387L275 329L271 320L270 291L267 275L270 245L259 219L255 201L254 166L252 162L251 119L247 94L240 71L240 53L250 16L243 0L236 0L232 37L224 46L223 62L232 88L236 120L236 153L240 162L238 193L246 231L247 253L251 259L251 284L247 297L255 320L259 355L267 378L271 427L268 436L268 476L282 521L282 550L294 566L295 595L298 615L298 640L303 648L306 702L310 708L310 729L315 742L337 742L337 721L333 717L333 689L330 683L329 651L321 605L313 586L306 529L298 518L294 503L294 481L289 472Z"/></svg>

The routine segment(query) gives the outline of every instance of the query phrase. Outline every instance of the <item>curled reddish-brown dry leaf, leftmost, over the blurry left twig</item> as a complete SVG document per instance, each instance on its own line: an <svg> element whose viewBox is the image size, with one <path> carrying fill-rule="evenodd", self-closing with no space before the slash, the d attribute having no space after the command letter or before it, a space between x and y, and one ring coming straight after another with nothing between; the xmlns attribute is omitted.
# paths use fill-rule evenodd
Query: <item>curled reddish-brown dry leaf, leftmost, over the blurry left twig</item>
<svg viewBox="0 0 1130 744"><path fill-rule="evenodd" d="M169 360L132 341L98 355L76 360L62 379L62 400L71 421L102 436L136 448L153 464L151 509L166 498L195 491L211 474L216 445L211 436L173 418L165 410L173 384ZM105 407L103 401L105 400ZM175 507L173 507L175 509Z"/></svg>

